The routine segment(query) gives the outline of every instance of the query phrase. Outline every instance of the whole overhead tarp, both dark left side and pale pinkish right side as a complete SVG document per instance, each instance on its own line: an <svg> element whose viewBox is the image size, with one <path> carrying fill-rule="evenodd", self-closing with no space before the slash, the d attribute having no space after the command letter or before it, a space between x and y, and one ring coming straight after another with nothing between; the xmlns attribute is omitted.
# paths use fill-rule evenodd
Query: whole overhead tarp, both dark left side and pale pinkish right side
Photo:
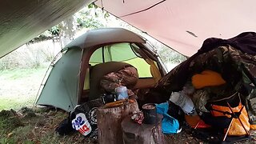
<svg viewBox="0 0 256 144"><path fill-rule="evenodd" d="M0 58L92 0L0 0ZM191 56L206 38L256 31L255 0L98 0L98 6Z"/></svg>

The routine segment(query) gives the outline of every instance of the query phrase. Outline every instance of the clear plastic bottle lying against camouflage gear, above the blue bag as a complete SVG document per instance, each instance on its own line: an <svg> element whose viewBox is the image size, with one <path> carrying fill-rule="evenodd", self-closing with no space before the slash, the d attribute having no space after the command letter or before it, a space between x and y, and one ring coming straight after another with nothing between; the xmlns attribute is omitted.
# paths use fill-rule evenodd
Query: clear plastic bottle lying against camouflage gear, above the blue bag
<svg viewBox="0 0 256 144"><path fill-rule="evenodd" d="M191 98L182 92L173 92L170 94L171 102L174 102L175 105L178 105L182 108L185 114L195 115L196 111L194 109L194 103Z"/></svg>

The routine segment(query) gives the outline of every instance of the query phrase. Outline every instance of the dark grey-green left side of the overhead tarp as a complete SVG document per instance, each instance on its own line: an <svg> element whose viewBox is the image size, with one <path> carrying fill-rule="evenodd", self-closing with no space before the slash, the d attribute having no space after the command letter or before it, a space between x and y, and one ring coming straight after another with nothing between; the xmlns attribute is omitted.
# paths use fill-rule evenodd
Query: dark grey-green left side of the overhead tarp
<svg viewBox="0 0 256 144"><path fill-rule="evenodd" d="M90 0L0 0L0 58L90 3Z"/></svg>

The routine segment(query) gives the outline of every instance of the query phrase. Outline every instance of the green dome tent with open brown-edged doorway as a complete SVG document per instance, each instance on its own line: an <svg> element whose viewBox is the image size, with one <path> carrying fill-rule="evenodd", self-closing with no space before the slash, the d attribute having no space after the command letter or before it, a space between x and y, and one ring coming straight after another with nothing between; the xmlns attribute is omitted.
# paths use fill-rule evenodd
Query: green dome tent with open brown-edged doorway
<svg viewBox="0 0 256 144"><path fill-rule="evenodd" d="M38 105L70 111L85 102L88 99L85 91L92 90L89 67L99 63L129 63L137 68L143 85L147 83L146 80L154 84L159 75L161 78L166 74L158 54L146 45L146 41L122 28L89 30L70 42L61 54L61 58L52 62L49 77L42 84L36 102Z"/></svg>

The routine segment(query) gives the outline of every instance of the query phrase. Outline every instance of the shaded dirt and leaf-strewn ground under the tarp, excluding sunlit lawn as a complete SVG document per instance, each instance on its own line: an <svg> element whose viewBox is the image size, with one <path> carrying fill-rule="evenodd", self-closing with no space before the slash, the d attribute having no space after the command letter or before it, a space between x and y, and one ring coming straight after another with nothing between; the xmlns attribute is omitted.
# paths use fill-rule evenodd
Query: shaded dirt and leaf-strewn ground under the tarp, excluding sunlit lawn
<svg viewBox="0 0 256 144"><path fill-rule="evenodd" d="M0 112L0 143L98 143L97 139L86 138L74 132L61 136L55 132L56 127L68 114L54 108L27 108L21 110L2 110ZM250 131L252 136L254 131ZM167 143L208 143L194 137L194 130L182 127L179 134L165 135ZM256 143L254 139L238 143Z"/></svg>

